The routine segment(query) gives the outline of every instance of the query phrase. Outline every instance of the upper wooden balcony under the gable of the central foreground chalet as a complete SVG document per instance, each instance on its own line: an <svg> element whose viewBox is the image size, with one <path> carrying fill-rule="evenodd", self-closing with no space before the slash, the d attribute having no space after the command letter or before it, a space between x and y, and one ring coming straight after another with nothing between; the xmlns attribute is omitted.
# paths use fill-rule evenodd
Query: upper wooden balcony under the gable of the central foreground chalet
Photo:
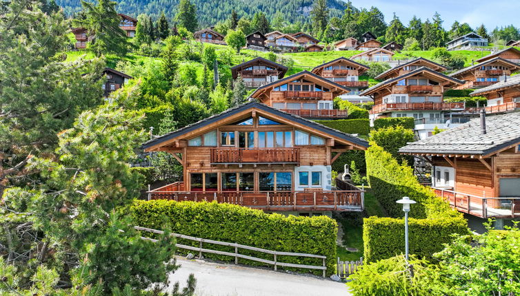
<svg viewBox="0 0 520 296"><path fill-rule="evenodd" d="M211 148L212 164L292 163L299 164L299 148Z"/></svg>

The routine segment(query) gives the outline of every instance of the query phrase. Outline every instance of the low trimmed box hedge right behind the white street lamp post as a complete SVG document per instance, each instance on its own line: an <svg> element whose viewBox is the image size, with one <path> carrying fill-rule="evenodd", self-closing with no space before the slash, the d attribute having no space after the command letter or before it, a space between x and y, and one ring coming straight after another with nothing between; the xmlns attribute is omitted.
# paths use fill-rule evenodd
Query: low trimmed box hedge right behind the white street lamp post
<svg viewBox="0 0 520 296"><path fill-rule="evenodd" d="M414 205L412 205L414 207ZM401 211L402 212L402 211ZM410 254L431 260L452 240L452 233L470 234L468 222L459 218L408 220ZM376 262L405 252L404 220L394 218L366 218L363 223L365 262Z"/></svg>

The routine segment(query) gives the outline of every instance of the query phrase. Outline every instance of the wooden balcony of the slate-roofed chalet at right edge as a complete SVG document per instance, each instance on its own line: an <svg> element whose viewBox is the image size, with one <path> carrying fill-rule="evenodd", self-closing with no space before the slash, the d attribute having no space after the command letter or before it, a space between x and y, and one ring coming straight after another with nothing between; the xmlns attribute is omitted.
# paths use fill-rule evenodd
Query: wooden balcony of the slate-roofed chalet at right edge
<svg viewBox="0 0 520 296"><path fill-rule="evenodd" d="M512 198L486 198L453 191L446 188L434 189L435 194L450 203L457 211L480 218L518 218L520 217L520 193Z"/></svg>

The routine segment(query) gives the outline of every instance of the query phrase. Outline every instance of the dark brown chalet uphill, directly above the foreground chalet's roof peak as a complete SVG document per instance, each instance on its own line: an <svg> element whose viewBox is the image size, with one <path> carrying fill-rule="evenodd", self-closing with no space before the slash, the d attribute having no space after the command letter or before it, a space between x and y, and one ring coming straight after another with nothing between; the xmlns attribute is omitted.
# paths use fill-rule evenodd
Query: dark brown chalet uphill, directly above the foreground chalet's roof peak
<svg viewBox="0 0 520 296"><path fill-rule="evenodd" d="M278 81L286 75L288 67L274 63L262 57L241 63L231 68L233 80L240 75L246 87L255 88L274 81Z"/></svg>

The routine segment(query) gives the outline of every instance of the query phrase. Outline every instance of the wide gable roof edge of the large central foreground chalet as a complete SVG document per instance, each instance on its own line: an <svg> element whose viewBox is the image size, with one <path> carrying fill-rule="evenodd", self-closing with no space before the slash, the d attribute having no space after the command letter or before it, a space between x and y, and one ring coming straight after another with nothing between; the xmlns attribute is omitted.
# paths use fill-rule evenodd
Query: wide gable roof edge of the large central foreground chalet
<svg viewBox="0 0 520 296"><path fill-rule="evenodd" d="M335 138L341 142L348 142L360 149L368 148L368 142L363 140L357 136L353 136L351 134L346 134L336 129L332 129L330 127L326 127L325 125L321 125L312 120L308 120L305 118L301 118L294 114L289 114L287 112L280 111L279 109L275 109L269 107L268 105L264 105L257 101L251 101L248 103L244 103L242 105L238 105L237 107L233 107L227 109L220 114L216 114L200 120L197 123L193 123L192 125L187 125L186 127L182 127L181 129L177 129L176 131L172 131L168 134L164 134L159 136L158 138L154 138L152 140L148 140L142 145L142 148L146 151L151 151L153 147L158 147L161 144L168 144L174 140L183 139L183 136L188 134L193 134L197 132L197 130L209 129L210 127L219 125L229 124L230 121L234 120L234 117L247 112L248 110L258 110L259 113L267 114L276 118L279 121L285 121L288 125L294 125L300 127L301 129L305 129L306 127L312 133L326 134L330 136L330 138ZM227 121L226 121L227 120ZM204 130L205 131L205 130Z"/></svg>

